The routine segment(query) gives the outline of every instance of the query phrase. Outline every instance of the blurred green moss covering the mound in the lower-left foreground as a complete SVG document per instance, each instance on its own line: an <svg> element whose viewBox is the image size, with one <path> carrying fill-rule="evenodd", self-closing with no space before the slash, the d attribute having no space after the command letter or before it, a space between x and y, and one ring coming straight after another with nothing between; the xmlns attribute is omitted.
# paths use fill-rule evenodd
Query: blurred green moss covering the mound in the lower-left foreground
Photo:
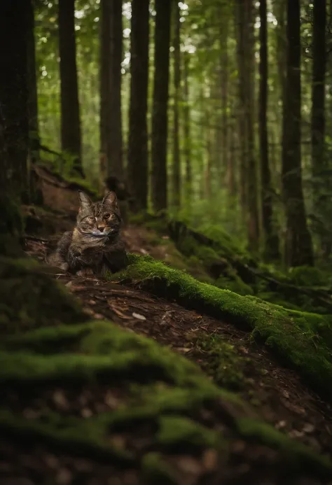
<svg viewBox="0 0 332 485"><path fill-rule="evenodd" d="M76 353L66 348L74 341ZM48 353L43 352L45 343ZM60 343L63 353L50 353L52 344ZM43 400L43 388L75 389L77 383L88 388L118 383L127 389L118 409L88 419L50 412L46 405L41 415L25 419L2 407L0 433L12 441L38 441L61 452L139 467L148 481L160 476L172 483L167 454L200 456L215 449L227 463L228 442L240 437L287 449L286 461L293 472L300 472L310 456L311 472L332 477L329 462L261 421L253 421L247 405L216 388L193 363L109 322L31 330L6 337L1 346L9 350L0 351L0 387L9 387L12 393L15 388L27 388L27 393L39 389ZM215 416L213 422L205 422L207 413Z"/></svg>

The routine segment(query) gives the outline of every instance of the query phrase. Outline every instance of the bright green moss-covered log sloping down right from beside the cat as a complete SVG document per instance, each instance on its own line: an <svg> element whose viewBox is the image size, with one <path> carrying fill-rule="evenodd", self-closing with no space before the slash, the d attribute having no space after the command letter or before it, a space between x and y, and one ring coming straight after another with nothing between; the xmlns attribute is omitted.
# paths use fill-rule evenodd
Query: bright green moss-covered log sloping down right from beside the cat
<svg viewBox="0 0 332 485"><path fill-rule="evenodd" d="M295 367L317 391L332 397L331 317L284 309L200 283L152 258L131 256L131 265L113 279L137 281L140 287L175 298L186 306L251 329L279 358Z"/></svg>

